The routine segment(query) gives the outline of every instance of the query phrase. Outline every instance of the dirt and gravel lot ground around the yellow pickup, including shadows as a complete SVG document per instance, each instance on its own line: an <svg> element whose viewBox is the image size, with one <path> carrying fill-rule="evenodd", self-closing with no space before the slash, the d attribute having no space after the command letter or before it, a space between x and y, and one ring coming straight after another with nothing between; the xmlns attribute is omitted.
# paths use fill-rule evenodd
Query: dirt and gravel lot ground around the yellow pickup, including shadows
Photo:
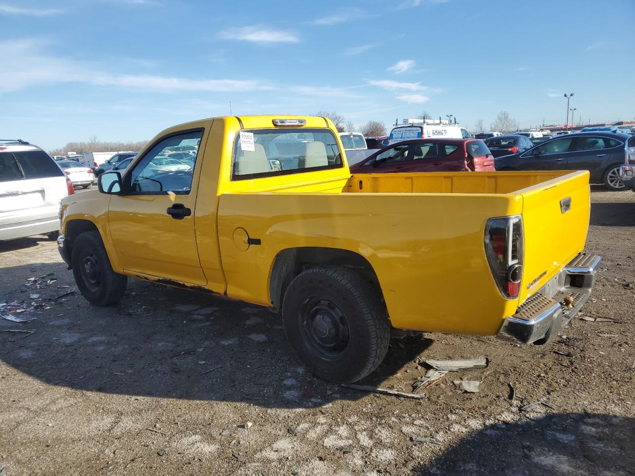
<svg viewBox="0 0 635 476"><path fill-rule="evenodd" d="M0 319L0 475L635 474L635 194L593 187L592 201L603 263L582 314L547 347L393 341L363 383L410 392L418 359L490 359L425 400L312 378L264 308L142 281L91 307L53 242L0 244L0 303L37 317Z"/></svg>

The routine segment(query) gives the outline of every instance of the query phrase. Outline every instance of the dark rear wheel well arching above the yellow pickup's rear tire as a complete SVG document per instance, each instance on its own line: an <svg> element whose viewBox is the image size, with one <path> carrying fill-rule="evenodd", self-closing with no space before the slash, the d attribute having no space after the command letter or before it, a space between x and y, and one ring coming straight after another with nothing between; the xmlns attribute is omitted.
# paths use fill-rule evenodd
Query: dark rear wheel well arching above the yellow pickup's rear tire
<svg viewBox="0 0 635 476"><path fill-rule="evenodd" d="M290 248L277 254L271 269L269 296L274 309L282 306L284 293L293 278L304 270L318 266L352 268L375 286L378 293L382 293L375 270L366 258L354 251L317 247Z"/></svg>

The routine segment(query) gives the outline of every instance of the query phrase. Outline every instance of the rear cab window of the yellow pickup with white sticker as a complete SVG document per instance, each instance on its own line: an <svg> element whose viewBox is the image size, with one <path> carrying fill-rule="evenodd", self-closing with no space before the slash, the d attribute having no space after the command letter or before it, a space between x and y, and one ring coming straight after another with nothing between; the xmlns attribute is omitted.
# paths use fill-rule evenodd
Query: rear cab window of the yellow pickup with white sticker
<svg viewBox="0 0 635 476"><path fill-rule="evenodd" d="M232 180L343 167L328 129L255 129L234 142Z"/></svg>

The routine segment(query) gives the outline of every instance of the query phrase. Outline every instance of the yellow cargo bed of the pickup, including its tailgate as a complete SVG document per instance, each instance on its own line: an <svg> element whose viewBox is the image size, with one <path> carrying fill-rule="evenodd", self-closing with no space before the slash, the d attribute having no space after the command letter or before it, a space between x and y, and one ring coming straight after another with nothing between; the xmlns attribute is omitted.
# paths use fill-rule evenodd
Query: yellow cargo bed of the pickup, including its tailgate
<svg viewBox="0 0 635 476"><path fill-rule="evenodd" d="M496 334L584 249L589 223L583 171L354 175L272 188L220 195L230 297L271 305L269 281L258 277L269 275L284 249L344 249L375 270L392 325L421 331ZM566 198L572 205L563 213L559 202ZM523 216L525 270L519 298L506 300L483 242L489 218L514 215ZM260 245L237 249L237 228ZM255 278L246 280L250 268Z"/></svg>

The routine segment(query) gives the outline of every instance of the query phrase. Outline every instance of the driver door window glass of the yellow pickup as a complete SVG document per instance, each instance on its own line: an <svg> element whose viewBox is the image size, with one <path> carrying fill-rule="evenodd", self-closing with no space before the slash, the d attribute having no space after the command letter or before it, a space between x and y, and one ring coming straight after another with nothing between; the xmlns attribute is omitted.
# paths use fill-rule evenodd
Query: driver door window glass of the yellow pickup
<svg viewBox="0 0 635 476"><path fill-rule="evenodd" d="M175 147L196 145L202 136L203 129L198 129L171 135L156 143L131 171L131 192L189 194L196 155L184 160L172 158L170 154Z"/></svg>

